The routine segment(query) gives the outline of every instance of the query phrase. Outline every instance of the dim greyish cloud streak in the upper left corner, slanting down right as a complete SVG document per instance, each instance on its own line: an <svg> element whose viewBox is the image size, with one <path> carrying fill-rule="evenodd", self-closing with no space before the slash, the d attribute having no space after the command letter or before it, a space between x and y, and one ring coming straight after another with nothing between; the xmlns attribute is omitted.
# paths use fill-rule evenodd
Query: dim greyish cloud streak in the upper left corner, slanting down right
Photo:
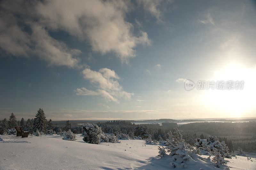
<svg viewBox="0 0 256 170"><path fill-rule="evenodd" d="M33 22L33 17L37 16L33 5L35 2L22 1L4 1L1 4L0 48L16 57L37 56L49 65L77 66L78 60L74 56L81 51L69 49L63 42L52 38L43 25ZM24 31L24 26L31 32Z"/></svg>

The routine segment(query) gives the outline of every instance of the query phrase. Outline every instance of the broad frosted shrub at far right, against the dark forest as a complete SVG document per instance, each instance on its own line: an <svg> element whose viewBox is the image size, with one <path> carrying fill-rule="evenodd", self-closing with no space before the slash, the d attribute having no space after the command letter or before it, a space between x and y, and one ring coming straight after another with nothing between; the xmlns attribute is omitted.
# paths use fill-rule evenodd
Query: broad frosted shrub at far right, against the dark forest
<svg viewBox="0 0 256 170"><path fill-rule="evenodd" d="M228 156L228 146L224 141L219 142L216 136L208 136L207 139L196 139L196 148L198 148L203 155L214 155L220 152L221 156ZM228 156L229 157L229 156Z"/></svg>

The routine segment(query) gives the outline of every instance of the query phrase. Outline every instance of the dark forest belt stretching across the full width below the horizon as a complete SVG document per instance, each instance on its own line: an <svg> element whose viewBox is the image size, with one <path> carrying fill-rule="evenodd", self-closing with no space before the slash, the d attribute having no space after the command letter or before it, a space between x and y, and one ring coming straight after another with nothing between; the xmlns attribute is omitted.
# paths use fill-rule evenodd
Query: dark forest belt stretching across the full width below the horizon
<svg viewBox="0 0 256 170"><path fill-rule="evenodd" d="M194 146L196 139L206 139L208 136L216 136L219 141L225 141L230 151L241 148L244 151L256 150L256 121L249 122L195 122L178 126L175 122L163 122L162 125L140 124L135 125L133 120L63 120L63 121L48 121L42 109L39 109L36 118L24 120L16 119L12 113L9 120L6 118L0 120L0 135L12 132L15 126L21 126L24 130L36 132L38 122L44 121L44 129L39 129L41 134L60 134L69 129L75 134L82 133L82 125L84 123L97 124L102 132L113 134L121 139L152 139L152 141L166 141L168 132L173 131L173 128L179 128L185 142ZM43 117L43 118L42 118ZM168 119L169 120L169 119Z"/></svg>

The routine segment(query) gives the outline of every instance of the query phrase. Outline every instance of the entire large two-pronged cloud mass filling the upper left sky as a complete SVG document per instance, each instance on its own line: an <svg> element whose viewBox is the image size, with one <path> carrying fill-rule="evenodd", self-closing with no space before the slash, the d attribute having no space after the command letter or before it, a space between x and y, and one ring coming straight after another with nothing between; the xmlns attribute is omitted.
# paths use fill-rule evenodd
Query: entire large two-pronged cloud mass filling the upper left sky
<svg viewBox="0 0 256 170"><path fill-rule="evenodd" d="M3 1L0 4L0 48L16 57L37 56L50 65L76 67L81 53L49 35L64 31L92 50L116 53L122 62L135 57L138 44L150 45L148 34L125 21L130 2L117 0ZM18 17L19 16L19 17Z"/></svg>

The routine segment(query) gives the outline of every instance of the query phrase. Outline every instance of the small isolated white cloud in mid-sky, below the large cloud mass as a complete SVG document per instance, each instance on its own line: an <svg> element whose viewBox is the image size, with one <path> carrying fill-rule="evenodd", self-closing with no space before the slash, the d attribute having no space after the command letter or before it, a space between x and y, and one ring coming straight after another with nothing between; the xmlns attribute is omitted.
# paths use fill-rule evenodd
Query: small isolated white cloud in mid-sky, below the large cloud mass
<svg viewBox="0 0 256 170"><path fill-rule="evenodd" d="M123 87L117 81L118 75L114 70L101 68L98 72L89 68L83 70L84 79L89 80L97 87L97 91L86 88L76 89L76 95L84 96L102 96L106 101L119 103L120 98L130 99L133 95L123 90Z"/></svg>

